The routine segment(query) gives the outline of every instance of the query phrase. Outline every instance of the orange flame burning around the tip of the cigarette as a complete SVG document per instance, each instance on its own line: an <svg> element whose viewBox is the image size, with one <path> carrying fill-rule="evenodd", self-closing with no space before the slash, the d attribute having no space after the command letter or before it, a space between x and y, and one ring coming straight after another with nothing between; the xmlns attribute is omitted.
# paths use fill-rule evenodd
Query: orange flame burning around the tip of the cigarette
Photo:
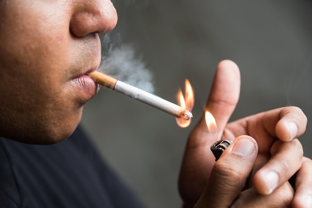
<svg viewBox="0 0 312 208"><path fill-rule="evenodd" d="M178 104L181 107L185 108L188 111L192 110L194 106L194 91L187 79L185 80L185 96L183 96L182 91L179 90L177 94L177 100ZM189 126L189 124L191 123L191 119L186 120L184 118L176 118L176 123L178 124L178 126L185 128Z"/></svg>

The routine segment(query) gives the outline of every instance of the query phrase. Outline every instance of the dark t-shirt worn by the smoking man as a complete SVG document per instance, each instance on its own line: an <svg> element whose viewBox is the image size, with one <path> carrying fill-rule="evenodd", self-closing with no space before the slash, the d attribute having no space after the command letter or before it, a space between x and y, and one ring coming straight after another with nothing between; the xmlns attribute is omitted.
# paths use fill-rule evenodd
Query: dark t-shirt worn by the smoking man
<svg viewBox="0 0 312 208"><path fill-rule="evenodd" d="M0 208L141 208L78 127L64 141L0 137Z"/></svg>

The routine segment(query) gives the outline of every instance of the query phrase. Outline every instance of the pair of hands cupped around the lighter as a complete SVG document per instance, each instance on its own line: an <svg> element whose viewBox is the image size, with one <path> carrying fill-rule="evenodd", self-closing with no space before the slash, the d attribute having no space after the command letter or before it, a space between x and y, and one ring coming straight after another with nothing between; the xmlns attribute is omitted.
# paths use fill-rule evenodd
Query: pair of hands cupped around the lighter
<svg viewBox="0 0 312 208"><path fill-rule="evenodd" d="M311 207L312 163L297 139L306 130L306 115L289 106L228 123L239 92L237 65L220 62L206 105L218 128L209 131L202 116L188 138L179 178L184 207ZM234 141L215 162L210 146L220 139Z"/></svg>

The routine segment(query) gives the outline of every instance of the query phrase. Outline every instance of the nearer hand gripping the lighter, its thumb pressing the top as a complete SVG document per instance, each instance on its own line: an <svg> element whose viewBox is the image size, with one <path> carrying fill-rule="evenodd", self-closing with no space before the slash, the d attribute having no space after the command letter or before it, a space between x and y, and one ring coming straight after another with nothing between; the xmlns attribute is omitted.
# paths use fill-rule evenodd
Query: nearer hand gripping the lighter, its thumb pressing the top
<svg viewBox="0 0 312 208"><path fill-rule="evenodd" d="M260 195L249 182L258 153L256 141L239 136L222 153L195 208L283 208L289 207L294 190L287 182L271 195ZM235 165L233 165L235 164ZM243 191L242 191L243 190Z"/></svg>

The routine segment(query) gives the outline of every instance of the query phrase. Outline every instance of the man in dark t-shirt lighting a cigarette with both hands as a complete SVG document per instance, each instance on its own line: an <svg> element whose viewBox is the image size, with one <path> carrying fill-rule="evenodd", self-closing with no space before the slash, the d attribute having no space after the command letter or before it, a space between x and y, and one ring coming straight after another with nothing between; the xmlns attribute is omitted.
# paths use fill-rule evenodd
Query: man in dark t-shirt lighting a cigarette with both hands
<svg viewBox="0 0 312 208"><path fill-rule="evenodd" d="M100 64L98 34L117 22L111 1L1 0L0 18L0 206L141 207L77 128L83 104L97 93L87 74ZM219 128L209 133L201 120L188 140L180 175L185 207L303 206L312 165L302 163L295 138L306 116L286 107L227 125L238 95L238 68L223 61L207 104ZM214 165L207 147L221 138L235 140Z"/></svg>

